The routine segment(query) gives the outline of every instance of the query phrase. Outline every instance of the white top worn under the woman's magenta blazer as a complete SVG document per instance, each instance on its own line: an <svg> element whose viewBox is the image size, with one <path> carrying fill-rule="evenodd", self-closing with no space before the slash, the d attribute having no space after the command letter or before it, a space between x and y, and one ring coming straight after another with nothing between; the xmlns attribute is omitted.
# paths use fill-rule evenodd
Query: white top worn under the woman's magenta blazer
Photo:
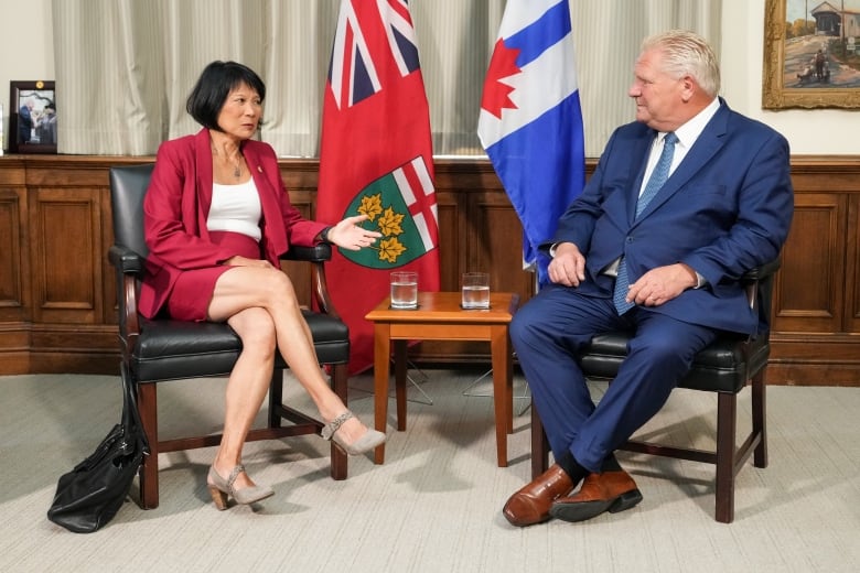
<svg viewBox="0 0 860 573"><path fill-rule="evenodd" d="M260 196L254 177L238 185L213 183L207 229L241 233L259 242L262 238L261 214Z"/></svg>

